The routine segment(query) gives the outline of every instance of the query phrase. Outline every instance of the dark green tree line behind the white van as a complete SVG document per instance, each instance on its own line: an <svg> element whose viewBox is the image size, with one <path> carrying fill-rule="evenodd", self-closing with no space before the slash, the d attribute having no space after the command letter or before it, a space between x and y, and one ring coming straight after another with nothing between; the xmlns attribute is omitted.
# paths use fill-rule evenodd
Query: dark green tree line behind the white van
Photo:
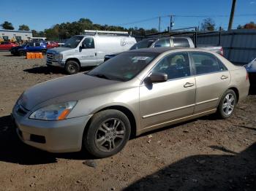
<svg viewBox="0 0 256 191"><path fill-rule="evenodd" d="M136 28L137 29L137 28ZM94 24L88 18L80 18L80 20L72 23L61 23L45 29L45 31L32 30L33 36L45 36L47 39L58 40L68 39L77 34L83 34L84 30L99 30L99 31L132 31L133 35L145 35L157 33L156 28L145 30L143 28L124 28L121 26L108 26Z"/></svg>

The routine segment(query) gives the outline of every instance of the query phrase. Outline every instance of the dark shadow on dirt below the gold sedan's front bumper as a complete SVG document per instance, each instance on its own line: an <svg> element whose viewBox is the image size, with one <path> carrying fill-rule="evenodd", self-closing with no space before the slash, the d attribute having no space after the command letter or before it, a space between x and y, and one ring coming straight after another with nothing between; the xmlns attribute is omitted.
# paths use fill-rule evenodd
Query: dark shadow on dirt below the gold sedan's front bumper
<svg viewBox="0 0 256 191"><path fill-rule="evenodd" d="M86 152L50 153L23 144L18 138L10 115L0 117L0 161L20 165L56 163L57 158L89 160Z"/></svg>

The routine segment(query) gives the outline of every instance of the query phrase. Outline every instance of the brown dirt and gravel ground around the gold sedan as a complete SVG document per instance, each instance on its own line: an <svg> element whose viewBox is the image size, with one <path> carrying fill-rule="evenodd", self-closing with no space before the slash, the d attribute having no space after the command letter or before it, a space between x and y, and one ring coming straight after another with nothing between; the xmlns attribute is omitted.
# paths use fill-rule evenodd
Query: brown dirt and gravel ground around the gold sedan
<svg viewBox="0 0 256 191"><path fill-rule="evenodd" d="M113 157L26 146L10 113L20 93L61 77L45 59L0 52L0 190L256 190L256 96L233 117L201 117L131 139Z"/></svg>

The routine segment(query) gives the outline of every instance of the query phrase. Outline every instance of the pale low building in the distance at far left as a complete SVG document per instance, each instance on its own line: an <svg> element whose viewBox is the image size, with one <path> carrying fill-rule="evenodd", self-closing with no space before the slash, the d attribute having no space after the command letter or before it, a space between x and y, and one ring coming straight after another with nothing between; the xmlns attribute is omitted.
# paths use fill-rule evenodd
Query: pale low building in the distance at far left
<svg viewBox="0 0 256 191"><path fill-rule="evenodd" d="M27 41L31 37L32 37L31 31L0 29L0 42L1 41L10 41L10 42Z"/></svg>

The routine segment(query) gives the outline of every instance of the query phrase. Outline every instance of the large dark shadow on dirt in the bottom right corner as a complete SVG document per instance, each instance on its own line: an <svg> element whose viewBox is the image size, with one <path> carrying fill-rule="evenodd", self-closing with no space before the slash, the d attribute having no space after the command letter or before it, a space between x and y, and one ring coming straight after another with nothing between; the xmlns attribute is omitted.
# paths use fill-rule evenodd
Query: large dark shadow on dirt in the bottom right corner
<svg viewBox="0 0 256 191"><path fill-rule="evenodd" d="M256 143L240 153L218 146L211 149L224 153L186 157L125 190L255 190Z"/></svg>

